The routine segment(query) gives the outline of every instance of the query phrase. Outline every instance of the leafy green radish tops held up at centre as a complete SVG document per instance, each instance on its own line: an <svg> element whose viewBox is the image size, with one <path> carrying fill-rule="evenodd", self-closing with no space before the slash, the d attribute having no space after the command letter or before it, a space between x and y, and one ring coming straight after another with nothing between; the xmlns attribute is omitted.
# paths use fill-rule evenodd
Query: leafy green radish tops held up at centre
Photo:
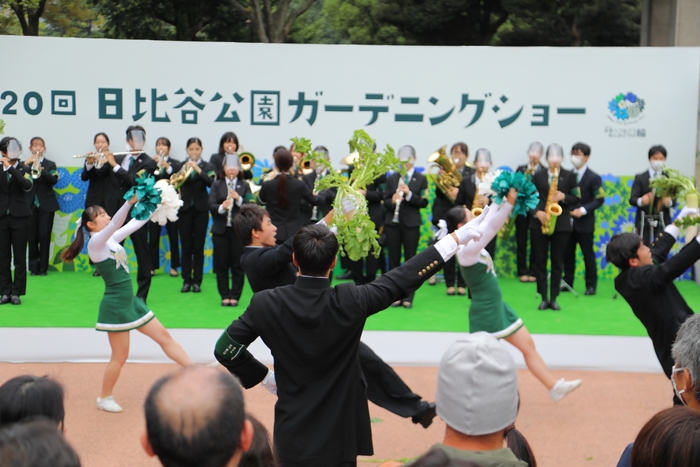
<svg viewBox="0 0 700 467"><path fill-rule="evenodd" d="M352 174L348 180L345 180L333 170L325 155L312 150L310 140L292 138L292 142L297 151L305 154L304 159L314 161L328 169L329 175L317 179L314 191L338 189L338 194L333 200L335 209L333 224L338 229L336 237L340 244L340 253L353 261L367 257L370 252L379 256L381 250L377 243L379 234L374 222L369 218L367 200L362 190L389 170L398 170L401 167L394 149L387 145L383 153L373 152L374 140L364 130L356 130L349 144L350 149L357 151L359 156L355 160ZM354 204L355 212L350 219L343 213L343 199L350 199Z"/></svg>

